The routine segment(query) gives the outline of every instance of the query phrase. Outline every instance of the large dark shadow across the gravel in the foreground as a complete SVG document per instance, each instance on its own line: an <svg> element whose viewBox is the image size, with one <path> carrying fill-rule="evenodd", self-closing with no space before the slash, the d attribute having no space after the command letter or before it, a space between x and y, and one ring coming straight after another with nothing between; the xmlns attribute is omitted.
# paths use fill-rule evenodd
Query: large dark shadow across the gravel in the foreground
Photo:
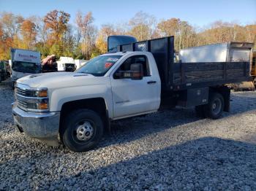
<svg viewBox="0 0 256 191"><path fill-rule="evenodd" d="M34 189L36 181L40 190L255 190L255 158L255 144L214 137L187 141L96 170L82 168L72 176L63 173L64 167L61 175L56 174L61 177L58 179L45 178L47 169L37 167L40 164L33 167L28 158L20 158L19 163L8 161L0 167L26 165L37 170L28 168L23 175L12 174L11 182L1 179L0 189L10 189L4 185L12 185L12 181L17 187ZM47 163L56 159L51 160ZM1 174L7 176L7 172Z"/></svg>

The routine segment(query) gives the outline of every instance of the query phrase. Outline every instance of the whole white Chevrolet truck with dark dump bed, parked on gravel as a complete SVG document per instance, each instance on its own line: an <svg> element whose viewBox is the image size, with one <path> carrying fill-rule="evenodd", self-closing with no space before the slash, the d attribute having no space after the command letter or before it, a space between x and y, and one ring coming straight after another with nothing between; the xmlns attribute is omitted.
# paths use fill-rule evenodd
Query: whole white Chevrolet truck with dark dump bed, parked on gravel
<svg viewBox="0 0 256 191"><path fill-rule="evenodd" d="M160 106L196 106L198 114L217 119L229 110L225 83L249 80L249 63L223 63L223 79L222 63L182 69L173 63L173 36L147 41L143 50L141 43L118 46L120 52L99 55L74 73L18 79L12 111L20 132L49 145L60 136L66 147L84 152L97 145L111 120L157 112ZM229 76L235 65L243 73ZM195 70L212 75L191 79Z"/></svg>

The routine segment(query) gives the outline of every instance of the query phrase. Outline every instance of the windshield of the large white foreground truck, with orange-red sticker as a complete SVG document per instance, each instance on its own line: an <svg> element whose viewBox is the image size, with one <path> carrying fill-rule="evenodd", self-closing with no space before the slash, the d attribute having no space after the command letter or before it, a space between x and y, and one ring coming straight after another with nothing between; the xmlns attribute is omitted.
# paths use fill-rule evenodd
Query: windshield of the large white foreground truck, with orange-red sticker
<svg viewBox="0 0 256 191"><path fill-rule="evenodd" d="M121 58L121 55L101 55L92 59L75 72L103 77L119 58Z"/></svg>

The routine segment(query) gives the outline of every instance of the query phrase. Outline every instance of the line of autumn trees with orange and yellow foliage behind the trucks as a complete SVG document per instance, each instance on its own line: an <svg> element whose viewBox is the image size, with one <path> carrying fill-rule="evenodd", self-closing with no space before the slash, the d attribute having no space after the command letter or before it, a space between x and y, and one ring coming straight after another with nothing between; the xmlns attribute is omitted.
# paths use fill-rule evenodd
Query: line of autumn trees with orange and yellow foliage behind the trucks
<svg viewBox="0 0 256 191"><path fill-rule="evenodd" d="M218 20L200 29L185 20L156 17L138 12L127 22L94 25L92 12L77 12L70 23L67 12L53 10L44 17L23 17L12 12L0 13L0 60L10 59L10 48L23 48L47 55L90 59L107 51L110 35L132 35L138 41L162 36L175 36L176 50L221 42L255 42L255 23L240 25Z"/></svg>

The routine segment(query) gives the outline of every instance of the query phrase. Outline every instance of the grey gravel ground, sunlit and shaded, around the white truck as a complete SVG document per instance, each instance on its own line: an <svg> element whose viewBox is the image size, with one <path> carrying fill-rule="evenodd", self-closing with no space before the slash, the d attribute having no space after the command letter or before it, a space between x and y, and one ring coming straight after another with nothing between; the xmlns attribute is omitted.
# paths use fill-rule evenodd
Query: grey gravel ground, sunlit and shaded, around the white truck
<svg viewBox="0 0 256 191"><path fill-rule="evenodd" d="M256 190L256 93L232 99L219 120L173 109L114 122L99 147L75 153L19 133L3 82L0 190Z"/></svg>

